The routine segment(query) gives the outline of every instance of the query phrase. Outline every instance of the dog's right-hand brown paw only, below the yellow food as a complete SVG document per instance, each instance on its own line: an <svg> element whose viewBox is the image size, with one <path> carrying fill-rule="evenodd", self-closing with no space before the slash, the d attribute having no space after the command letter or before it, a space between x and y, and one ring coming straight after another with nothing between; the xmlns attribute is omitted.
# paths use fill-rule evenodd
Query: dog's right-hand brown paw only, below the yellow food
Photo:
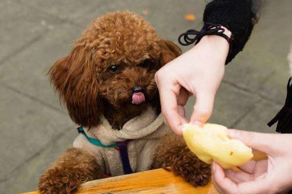
<svg viewBox="0 0 292 194"><path fill-rule="evenodd" d="M194 186L206 185L211 179L210 165L200 161L187 147L173 160L171 170Z"/></svg>

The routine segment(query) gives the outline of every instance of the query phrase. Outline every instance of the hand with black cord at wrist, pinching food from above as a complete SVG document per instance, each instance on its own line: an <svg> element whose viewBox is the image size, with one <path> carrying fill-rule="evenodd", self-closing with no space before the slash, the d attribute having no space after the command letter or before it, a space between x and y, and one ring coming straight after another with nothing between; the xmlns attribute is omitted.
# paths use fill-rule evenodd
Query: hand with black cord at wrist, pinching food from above
<svg viewBox="0 0 292 194"><path fill-rule="evenodd" d="M190 122L202 126L211 116L228 50L224 38L204 36L156 73L164 121L176 134L182 135L183 123L189 122L183 106L190 96L196 96Z"/></svg>

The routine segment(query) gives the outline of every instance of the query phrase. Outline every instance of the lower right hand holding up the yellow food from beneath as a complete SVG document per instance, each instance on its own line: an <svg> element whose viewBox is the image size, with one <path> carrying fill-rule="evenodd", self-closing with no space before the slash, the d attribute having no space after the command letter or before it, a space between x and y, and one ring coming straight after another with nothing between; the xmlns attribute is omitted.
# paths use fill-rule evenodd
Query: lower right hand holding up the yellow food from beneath
<svg viewBox="0 0 292 194"><path fill-rule="evenodd" d="M229 136L265 152L267 160L249 161L241 171L212 163L212 182L220 194L278 194L292 189L292 134L229 129Z"/></svg>

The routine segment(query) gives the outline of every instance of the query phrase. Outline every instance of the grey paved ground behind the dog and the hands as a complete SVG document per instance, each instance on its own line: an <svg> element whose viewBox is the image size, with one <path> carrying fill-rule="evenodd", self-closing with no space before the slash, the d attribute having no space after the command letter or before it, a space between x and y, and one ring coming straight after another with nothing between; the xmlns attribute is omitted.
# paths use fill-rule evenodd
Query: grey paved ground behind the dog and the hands
<svg viewBox="0 0 292 194"><path fill-rule="evenodd" d="M39 176L72 146L75 124L60 106L47 69L108 11L144 16L167 39L200 29L205 0L2 0L0 3L0 193L37 189ZM226 67L210 122L273 132L281 108L292 39L291 0L266 0L243 52ZM194 14L195 21L184 19ZM189 49L182 48L184 51ZM194 75L195 76L195 75ZM187 105L190 113L194 99Z"/></svg>

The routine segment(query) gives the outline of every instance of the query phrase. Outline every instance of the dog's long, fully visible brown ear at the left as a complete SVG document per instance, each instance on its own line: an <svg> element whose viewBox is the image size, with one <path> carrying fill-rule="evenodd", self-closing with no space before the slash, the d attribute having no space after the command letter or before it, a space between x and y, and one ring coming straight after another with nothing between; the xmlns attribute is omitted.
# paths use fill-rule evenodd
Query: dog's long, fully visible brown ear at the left
<svg viewBox="0 0 292 194"><path fill-rule="evenodd" d="M103 107L91 50L75 47L67 57L55 62L49 75L73 121L83 127L96 126Z"/></svg>

